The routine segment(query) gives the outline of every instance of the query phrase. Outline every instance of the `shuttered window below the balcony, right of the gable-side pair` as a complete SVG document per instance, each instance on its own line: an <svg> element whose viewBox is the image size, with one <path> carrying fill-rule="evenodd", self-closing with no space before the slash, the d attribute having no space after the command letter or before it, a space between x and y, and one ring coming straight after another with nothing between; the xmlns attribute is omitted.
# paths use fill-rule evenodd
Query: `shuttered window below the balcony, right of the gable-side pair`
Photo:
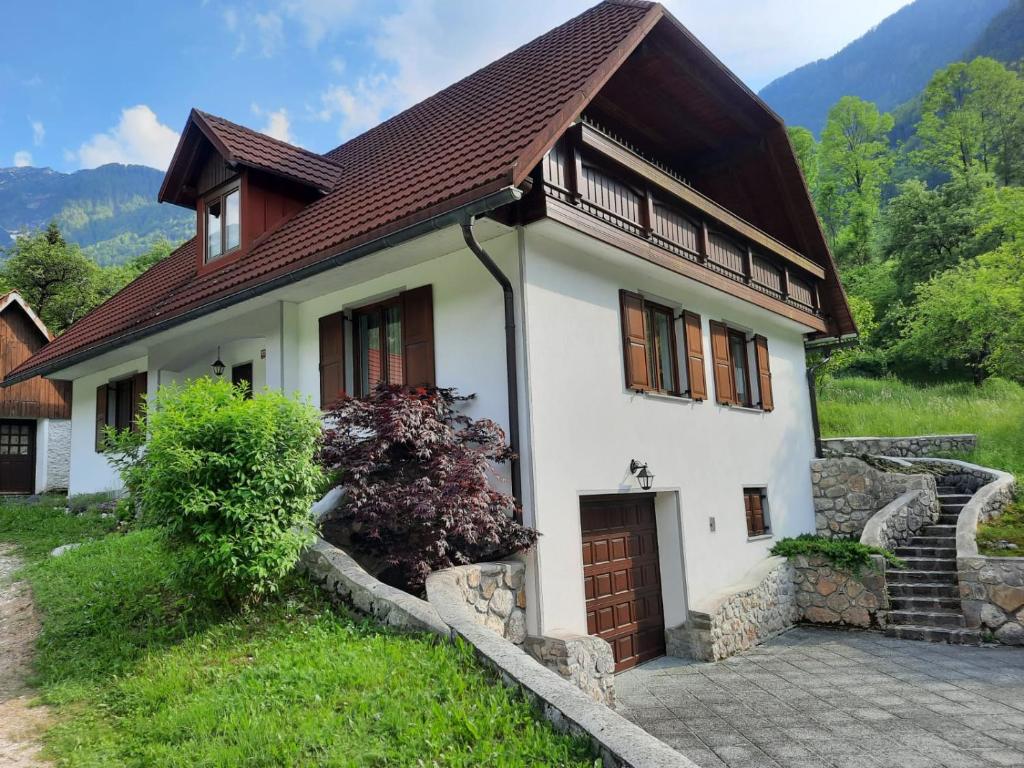
<svg viewBox="0 0 1024 768"><path fill-rule="evenodd" d="M716 401L723 406L774 410L768 340L724 323L711 321L709 325Z"/></svg>

